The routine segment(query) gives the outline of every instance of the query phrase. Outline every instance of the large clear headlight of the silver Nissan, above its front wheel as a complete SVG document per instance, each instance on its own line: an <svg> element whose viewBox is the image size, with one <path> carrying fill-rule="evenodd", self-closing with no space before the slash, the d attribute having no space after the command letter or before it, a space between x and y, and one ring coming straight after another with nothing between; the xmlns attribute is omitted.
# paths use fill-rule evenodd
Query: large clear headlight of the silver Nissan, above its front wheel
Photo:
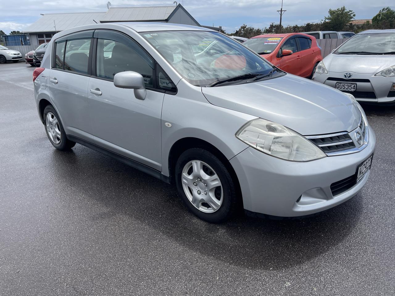
<svg viewBox="0 0 395 296"><path fill-rule="evenodd" d="M310 161L326 156L320 148L292 129L261 118L247 122L236 137L265 154L281 159Z"/></svg>

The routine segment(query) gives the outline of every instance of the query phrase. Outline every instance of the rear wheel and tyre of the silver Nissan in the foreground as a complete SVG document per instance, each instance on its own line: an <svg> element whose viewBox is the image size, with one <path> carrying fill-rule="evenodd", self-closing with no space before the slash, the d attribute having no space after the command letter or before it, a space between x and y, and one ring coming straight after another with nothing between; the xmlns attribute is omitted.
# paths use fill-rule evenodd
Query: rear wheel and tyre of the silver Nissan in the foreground
<svg viewBox="0 0 395 296"><path fill-rule="evenodd" d="M45 107L43 118L47 137L56 149L69 150L74 147L75 142L67 139L66 132L59 120L59 115L53 106L48 105Z"/></svg>

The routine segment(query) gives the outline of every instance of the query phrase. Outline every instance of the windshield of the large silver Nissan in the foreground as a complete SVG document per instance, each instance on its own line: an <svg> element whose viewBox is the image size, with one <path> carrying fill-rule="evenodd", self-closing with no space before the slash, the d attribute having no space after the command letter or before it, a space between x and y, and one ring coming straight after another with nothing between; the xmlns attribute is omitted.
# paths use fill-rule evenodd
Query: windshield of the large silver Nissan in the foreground
<svg viewBox="0 0 395 296"><path fill-rule="evenodd" d="M246 82L246 75L267 75L273 66L241 43L218 32L161 31L140 33L173 68L195 86ZM273 71L274 72L274 71ZM271 77L284 75L281 71ZM241 77L240 79L237 77ZM234 81L228 80L235 78Z"/></svg>

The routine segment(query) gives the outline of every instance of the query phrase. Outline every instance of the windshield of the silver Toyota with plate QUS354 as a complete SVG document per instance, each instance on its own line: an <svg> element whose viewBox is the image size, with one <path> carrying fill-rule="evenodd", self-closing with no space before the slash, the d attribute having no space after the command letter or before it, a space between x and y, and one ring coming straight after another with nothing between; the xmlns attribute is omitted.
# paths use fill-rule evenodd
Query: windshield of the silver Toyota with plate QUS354
<svg viewBox="0 0 395 296"><path fill-rule="evenodd" d="M395 52L395 33L357 34L343 43L335 54L391 54Z"/></svg>

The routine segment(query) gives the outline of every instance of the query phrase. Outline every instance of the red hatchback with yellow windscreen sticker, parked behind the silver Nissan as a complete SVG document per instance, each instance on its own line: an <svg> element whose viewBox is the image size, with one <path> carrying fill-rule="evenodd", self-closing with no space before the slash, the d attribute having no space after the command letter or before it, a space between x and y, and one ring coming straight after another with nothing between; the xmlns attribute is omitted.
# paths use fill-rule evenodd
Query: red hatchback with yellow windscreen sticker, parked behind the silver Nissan
<svg viewBox="0 0 395 296"><path fill-rule="evenodd" d="M316 38L303 33L260 35L243 45L283 71L302 77L311 77L322 60Z"/></svg>

